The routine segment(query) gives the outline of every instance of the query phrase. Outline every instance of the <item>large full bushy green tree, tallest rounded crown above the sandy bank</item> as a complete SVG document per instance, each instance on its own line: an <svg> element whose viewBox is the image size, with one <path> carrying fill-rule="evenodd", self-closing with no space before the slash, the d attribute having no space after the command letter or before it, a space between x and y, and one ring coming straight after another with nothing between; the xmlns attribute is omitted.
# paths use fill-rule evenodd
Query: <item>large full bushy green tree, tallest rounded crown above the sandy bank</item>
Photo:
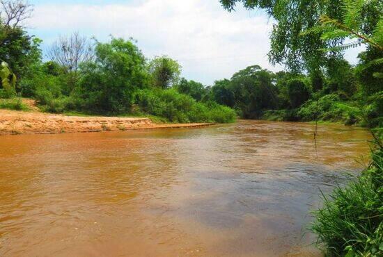
<svg viewBox="0 0 383 257"><path fill-rule="evenodd" d="M96 43L95 60L81 65L75 91L81 108L103 113L130 110L134 91L148 84L145 58L134 43L123 38Z"/></svg>

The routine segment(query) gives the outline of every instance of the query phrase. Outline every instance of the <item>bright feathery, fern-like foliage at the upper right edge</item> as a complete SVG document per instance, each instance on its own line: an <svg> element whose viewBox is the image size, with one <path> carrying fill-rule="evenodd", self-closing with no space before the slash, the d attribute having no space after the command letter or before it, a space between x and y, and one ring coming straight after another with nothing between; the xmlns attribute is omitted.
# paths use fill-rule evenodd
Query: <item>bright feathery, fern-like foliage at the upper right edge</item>
<svg viewBox="0 0 383 257"><path fill-rule="evenodd" d="M371 6L374 3L375 6ZM383 2L364 0L343 0L341 1L343 16L339 19L323 14L320 17L320 24L313 26L303 34L317 33L325 42L329 40L350 40L347 44L340 44L322 51L343 51L361 44L367 45L367 50L359 54L359 65L357 76L362 89L366 94L374 94L382 90L383 78ZM368 14L368 15L366 15ZM366 22L367 20L367 22ZM350 78L350 67L338 60L331 60L335 65L329 70L331 83L344 92L352 93L354 87L350 87L354 81ZM339 65L340 64L340 65ZM348 65L350 66L350 65ZM340 76L343 74L344 76ZM340 79L341 78L341 79ZM331 85L330 83L330 85ZM347 86L342 84L347 84Z"/></svg>

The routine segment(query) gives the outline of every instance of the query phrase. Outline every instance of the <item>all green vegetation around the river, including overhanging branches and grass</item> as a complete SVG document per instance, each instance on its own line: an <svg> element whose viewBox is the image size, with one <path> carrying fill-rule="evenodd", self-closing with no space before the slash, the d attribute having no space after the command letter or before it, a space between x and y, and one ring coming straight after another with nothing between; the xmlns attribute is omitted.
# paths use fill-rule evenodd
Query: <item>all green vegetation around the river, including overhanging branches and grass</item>
<svg viewBox="0 0 383 257"><path fill-rule="evenodd" d="M19 3L25 7L18 16L1 17L0 108L24 110L15 97L31 97L51 113L221 123L239 116L366 126L375 138L370 166L358 181L324 198L312 230L329 255L383 254L382 1L221 0L229 11L240 2L276 20L269 58L286 71L253 65L214 85L181 78L181 66L168 56L148 60L132 39L98 42L74 33L58 38L44 62L41 40L19 23L29 16L29 6L0 2L13 7L8 10ZM359 63L350 65L344 50L361 44L366 49Z"/></svg>

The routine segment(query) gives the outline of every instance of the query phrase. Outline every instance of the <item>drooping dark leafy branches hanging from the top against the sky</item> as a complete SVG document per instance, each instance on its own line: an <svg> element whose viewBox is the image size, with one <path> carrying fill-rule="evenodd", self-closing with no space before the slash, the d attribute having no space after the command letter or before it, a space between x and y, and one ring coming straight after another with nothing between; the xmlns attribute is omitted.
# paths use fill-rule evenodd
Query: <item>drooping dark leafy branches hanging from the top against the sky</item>
<svg viewBox="0 0 383 257"><path fill-rule="evenodd" d="M328 38L323 40L322 31L311 31L321 24L321 17L341 19L347 10L342 7L341 0L220 0L226 10L235 10L236 3L243 3L247 9L262 8L270 17L276 20L271 39L269 60L275 64L284 64L292 72L308 72L325 67L331 69L330 58L342 59L339 51L332 51L334 47L341 46L345 37ZM361 1L361 0L357 0ZM354 2L353 1L349 1ZM382 14L383 2L380 0L363 1L361 6L359 31L366 35L373 33L378 22L377 17ZM306 33L311 31L312 33ZM382 35L382 33L380 33ZM330 49L330 51L318 51Z"/></svg>

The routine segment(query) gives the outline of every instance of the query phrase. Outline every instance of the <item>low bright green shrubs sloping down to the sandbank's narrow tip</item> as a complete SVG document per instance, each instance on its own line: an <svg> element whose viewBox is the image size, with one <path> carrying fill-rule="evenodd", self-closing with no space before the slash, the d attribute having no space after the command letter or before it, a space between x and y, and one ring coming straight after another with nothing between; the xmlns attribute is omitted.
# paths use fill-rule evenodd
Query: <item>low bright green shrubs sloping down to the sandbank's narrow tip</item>
<svg viewBox="0 0 383 257"><path fill-rule="evenodd" d="M235 112L217 103L198 103L174 89L139 90L135 103L143 113L166 117L170 122L233 122Z"/></svg>

